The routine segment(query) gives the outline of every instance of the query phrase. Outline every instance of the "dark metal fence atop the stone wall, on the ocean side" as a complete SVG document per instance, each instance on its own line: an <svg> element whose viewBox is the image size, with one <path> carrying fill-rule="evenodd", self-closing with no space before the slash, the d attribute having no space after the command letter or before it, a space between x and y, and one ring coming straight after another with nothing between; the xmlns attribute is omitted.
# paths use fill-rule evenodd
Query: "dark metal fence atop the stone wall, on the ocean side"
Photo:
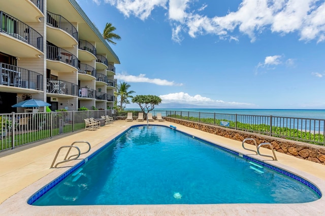
<svg viewBox="0 0 325 216"><path fill-rule="evenodd" d="M153 115L224 126L241 131L325 145L325 119L206 113L189 111L153 111Z"/></svg>

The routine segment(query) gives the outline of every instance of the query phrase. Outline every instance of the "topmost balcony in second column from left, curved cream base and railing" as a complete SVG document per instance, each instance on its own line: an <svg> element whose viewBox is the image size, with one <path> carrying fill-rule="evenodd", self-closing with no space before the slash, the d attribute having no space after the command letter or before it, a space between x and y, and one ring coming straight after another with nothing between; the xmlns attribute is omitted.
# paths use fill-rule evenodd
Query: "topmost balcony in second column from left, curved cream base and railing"
<svg viewBox="0 0 325 216"><path fill-rule="evenodd" d="M47 40L58 47L74 47L78 44L78 31L64 17L47 12Z"/></svg>

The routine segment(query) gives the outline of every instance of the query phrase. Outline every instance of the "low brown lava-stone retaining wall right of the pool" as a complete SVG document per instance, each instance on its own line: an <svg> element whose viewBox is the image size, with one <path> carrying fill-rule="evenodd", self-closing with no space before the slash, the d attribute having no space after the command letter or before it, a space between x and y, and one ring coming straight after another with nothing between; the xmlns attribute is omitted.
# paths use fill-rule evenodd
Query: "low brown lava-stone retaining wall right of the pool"
<svg viewBox="0 0 325 216"><path fill-rule="evenodd" d="M310 160L325 165L325 146L313 145L299 141L291 141L281 138L254 134L250 132L238 131L231 128L224 128L220 126L186 121L170 117L165 117L165 120L181 124L187 127L196 128L200 131L208 132L210 134L215 134L221 137L237 140L240 142L242 142L246 138L254 138L256 140L257 145L261 143L271 143L274 150L276 150L277 152L293 155L298 158ZM253 141L247 141L247 143L254 145ZM269 148L267 146L265 147Z"/></svg>

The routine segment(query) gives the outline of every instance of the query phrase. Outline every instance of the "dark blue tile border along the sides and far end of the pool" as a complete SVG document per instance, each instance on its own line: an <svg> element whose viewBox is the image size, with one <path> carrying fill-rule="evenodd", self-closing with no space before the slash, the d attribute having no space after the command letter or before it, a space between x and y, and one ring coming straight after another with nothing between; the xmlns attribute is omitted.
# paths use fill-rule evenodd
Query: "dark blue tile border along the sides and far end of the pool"
<svg viewBox="0 0 325 216"><path fill-rule="evenodd" d="M73 171L75 171L77 168L79 168L81 165L83 165L84 163L86 163L86 161L92 157L94 157L96 154L98 154L99 152L101 152L104 148L108 147L110 144L112 144L116 139L120 138L121 136L123 136L123 134L125 134L125 132L127 132L129 129L133 128L133 127L138 127L138 126L147 126L146 124L138 124L138 125L132 125L130 126L128 129L126 129L123 133L119 134L118 136L116 136L114 139L112 139L111 141L109 141L107 144L105 144L104 146L102 146L101 148L99 148L98 150L96 150L95 152L93 152L92 154L90 154L88 157L86 157L85 159L83 159L82 161L80 161L79 163L77 163L76 165L74 165L73 167L71 167L69 170L67 170L66 172L64 172L62 175L60 175L59 177L57 177L56 179L54 179L52 182L50 182L49 184L47 184L46 186L44 186L43 188L41 188L40 190L38 190L35 194L33 194L27 201L27 203L29 205L32 205L34 202L36 202L40 197L42 197L46 192L48 192L49 190L51 190L55 185L57 185L59 182L61 182L63 179L65 179L67 176L69 176ZM164 127L169 127L169 126L166 126L166 125L156 125L156 124L150 124L150 126L164 126ZM172 127L172 129L176 129ZM193 135L189 135L185 132L182 132L182 131L179 131L177 130L178 132L188 136L188 137L192 137L193 139L197 139L201 142L204 142L206 144L209 144L209 145L213 145L213 146L216 146L217 148L219 149L222 149L226 152L229 152L229 153L232 153L236 156L239 156L239 157L243 157L247 160L250 160L254 163L258 163L258 164L261 164L265 167L268 167L270 169L273 169L277 172L280 172L281 174L283 175L286 175L288 177L290 177L291 179L294 179L298 182L301 182L302 184L306 185L307 187L309 187L310 189L312 189L313 191L315 191L319 197L321 197L321 192L320 190L314 185L312 184L311 182L305 180L304 178L302 177L299 177L289 171L286 171L284 169L281 169L279 167L276 167L276 166L273 166L271 164L268 164L266 162L263 162L263 161L260 161L260 160L257 160L257 159L254 159L252 157L249 157L247 155L243 155L239 152L236 152L234 150L231 150L231 149L228 149L228 148L225 148L225 147L222 147L220 145L217 145L217 144L214 144L214 143L211 143L207 140L204 140L204 139L201 139L201 138L198 138L198 137L195 137Z"/></svg>

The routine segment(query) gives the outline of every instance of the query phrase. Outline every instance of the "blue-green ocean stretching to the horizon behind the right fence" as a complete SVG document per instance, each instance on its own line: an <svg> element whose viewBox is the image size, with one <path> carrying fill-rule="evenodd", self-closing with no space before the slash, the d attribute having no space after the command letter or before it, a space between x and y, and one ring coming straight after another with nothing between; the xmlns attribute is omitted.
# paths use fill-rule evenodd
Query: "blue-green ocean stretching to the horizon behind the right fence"
<svg viewBox="0 0 325 216"><path fill-rule="evenodd" d="M140 109L125 109L139 110ZM168 112L165 112L168 111ZM171 111L171 112L169 112ZM325 110L324 109L163 109L155 108L151 112L161 112L161 114L175 114L182 116L216 118L224 122L237 121L252 125L270 125L272 116L272 126L298 129L303 132L313 134L325 134ZM180 113L184 112L184 113ZM200 113L199 113L200 112ZM207 113L207 114L205 114ZM216 113L216 115L209 114ZM231 115L224 115L231 114ZM235 115L238 116L235 118Z"/></svg>

